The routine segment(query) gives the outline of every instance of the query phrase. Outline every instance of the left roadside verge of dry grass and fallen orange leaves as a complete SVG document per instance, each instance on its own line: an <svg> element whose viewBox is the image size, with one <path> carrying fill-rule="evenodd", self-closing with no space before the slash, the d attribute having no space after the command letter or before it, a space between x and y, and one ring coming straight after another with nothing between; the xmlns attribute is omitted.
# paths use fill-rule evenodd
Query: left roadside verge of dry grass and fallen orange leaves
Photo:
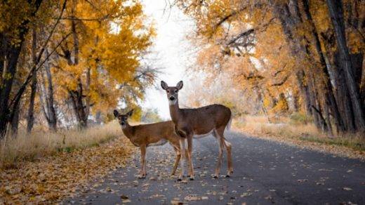
<svg viewBox="0 0 365 205"><path fill-rule="evenodd" d="M135 150L117 124L66 133L32 135L32 143L20 138L3 147L2 161L9 164L0 168L0 204L53 204L72 197L93 178L126 166Z"/></svg>

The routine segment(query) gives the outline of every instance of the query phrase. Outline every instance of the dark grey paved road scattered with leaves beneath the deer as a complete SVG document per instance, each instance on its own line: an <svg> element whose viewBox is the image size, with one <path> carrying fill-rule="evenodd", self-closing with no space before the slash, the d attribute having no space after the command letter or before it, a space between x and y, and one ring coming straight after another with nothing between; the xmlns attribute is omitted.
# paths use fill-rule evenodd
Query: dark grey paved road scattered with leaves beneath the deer
<svg viewBox="0 0 365 205"><path fill-rule="evenodd" d="M234 173L213 179L218 144L194 140L194 181L177 182L168 173L169 145L147 149L147 178L138 180L139 155L128 168L91 183L65 204L365 204L365 163L267 140L227 133ZM226 160L224 160L226 161ZM223 164L222 174L227 164Z"/></svg>

